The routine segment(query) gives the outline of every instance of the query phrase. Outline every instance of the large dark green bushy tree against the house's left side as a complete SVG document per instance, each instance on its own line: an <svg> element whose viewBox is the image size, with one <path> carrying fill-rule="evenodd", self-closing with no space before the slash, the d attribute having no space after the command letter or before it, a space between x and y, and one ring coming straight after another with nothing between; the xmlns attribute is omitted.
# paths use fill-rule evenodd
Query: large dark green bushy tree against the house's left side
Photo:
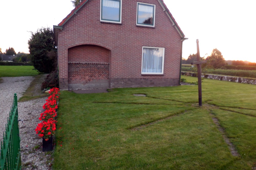
<svg viewBox="0 0 256 170"><path fill-rule="evenodd" d="M31 38L28 40L30 60L40 73L56 70L57 52L54 46L54 33L51 28L42 27L35 33L31 32Z"/></svg>

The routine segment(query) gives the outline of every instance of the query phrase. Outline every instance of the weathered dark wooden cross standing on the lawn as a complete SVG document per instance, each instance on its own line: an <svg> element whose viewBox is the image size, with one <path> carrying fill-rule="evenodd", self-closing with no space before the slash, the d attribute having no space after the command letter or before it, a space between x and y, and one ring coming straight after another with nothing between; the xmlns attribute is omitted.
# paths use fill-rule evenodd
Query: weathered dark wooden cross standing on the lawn
<svg viewBox="0 0 256 170"><path fill-rule="evenodd" d="M199 106L202 106L202 80L201 80L201 65L203 63L206 63L206 61L201 61L200 53L199 53L199 41L196 40L196 46L197 46L197 53L196 53L196 59L197 61L191 62L191 64L197 65L197 79L198 79L198 104Z"/></svg>

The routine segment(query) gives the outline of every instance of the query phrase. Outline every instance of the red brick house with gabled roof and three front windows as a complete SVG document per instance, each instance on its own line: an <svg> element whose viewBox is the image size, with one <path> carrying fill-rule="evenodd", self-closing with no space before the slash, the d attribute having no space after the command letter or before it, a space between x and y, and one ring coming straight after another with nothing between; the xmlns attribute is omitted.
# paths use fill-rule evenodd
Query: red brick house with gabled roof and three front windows
<svg viewBox="0 0 256 170"><path fill-rule="evenodd" d="M82 0L54 36L61 90L179 85L187 38L163 0Z"/></svg>

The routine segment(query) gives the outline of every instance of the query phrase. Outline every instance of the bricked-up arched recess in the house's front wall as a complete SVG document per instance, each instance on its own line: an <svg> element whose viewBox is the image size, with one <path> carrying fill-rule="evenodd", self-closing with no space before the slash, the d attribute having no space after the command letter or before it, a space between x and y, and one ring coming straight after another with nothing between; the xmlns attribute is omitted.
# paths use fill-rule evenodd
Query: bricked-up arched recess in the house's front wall
<svg viewBox="0 0 256 170"><path fill-rule="evenodd" d="M110 49L78 43L68 48L68 89L109 88Z"/></svg>

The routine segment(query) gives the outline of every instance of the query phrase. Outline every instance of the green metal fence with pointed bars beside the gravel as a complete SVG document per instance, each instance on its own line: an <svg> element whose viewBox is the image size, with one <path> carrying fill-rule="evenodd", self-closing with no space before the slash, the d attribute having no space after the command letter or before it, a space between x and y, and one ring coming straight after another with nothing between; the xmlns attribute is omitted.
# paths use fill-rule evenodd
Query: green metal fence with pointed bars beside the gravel
<svg viewBox="0 0 256 170"><path fill-rule="evenodd" d="M18 101L14 94L13 106L5 124L5 133L1 141L0 169L21 169L20 137L18 125Z"/></svg>

